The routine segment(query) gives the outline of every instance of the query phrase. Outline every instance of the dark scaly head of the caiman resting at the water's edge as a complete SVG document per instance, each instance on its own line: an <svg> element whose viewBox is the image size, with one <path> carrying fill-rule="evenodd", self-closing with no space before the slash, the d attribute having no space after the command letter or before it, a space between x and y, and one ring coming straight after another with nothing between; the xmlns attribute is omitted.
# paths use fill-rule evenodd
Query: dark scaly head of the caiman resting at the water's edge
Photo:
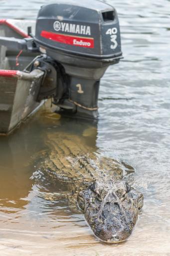
<svg viewBox="0 0 170 256"><path fill-rule="evenodd" d="M125 181L95 181L78 193L79 207L94 234L104 242L127 240L143 206L143 194Z"/></svg>

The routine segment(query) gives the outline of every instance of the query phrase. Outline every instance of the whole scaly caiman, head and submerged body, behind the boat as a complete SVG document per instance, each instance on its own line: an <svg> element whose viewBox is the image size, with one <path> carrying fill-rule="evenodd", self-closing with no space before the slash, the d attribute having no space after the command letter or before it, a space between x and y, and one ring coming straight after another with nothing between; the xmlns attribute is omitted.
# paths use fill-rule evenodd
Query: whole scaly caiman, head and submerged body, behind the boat
<svg viewBox="0 0 170 256"><path fill-rule="evenodd" d="M110 243L127 240L143 207L143 194L124 180L120 162L88 145L93 139L89 130L82 136L55 129L46 132L50 150L42 156L41 170L67 184L70 204L77 202L97 237Z"/></svg>

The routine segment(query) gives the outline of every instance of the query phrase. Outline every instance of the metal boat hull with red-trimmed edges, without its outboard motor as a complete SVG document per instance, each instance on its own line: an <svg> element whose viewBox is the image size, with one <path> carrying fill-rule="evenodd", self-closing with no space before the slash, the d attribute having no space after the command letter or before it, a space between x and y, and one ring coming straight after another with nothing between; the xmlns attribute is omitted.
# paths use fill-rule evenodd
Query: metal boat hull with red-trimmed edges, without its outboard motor
<svg viewBox="0 0 170 256"><path fill-rule="evenodd" d="M30 25L34 31L33 20L1 19L0 36L29 37L26 29ZM44 72L23 71L36 55L0 45L0 134L9 134L43 103L36 99Z"/></svg>

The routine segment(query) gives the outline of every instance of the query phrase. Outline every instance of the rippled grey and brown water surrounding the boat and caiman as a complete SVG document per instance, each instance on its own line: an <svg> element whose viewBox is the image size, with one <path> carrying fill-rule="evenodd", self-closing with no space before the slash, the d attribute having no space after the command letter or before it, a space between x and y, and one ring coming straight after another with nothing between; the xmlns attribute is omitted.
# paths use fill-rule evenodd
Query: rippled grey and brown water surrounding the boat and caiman
<svg viewBox="0 0 170 256"><path fill-rule="evenodd" d="M45 2L0 0L0 17L34 18ZM170 255L170 1L109 2L125 58L101 81L96 127L58 120L44 107L0 137L0 255ZM37 171L35 159L43 162L46 133L54 131L77 134L89 150L129 165L125 174L145 205L127 242L101 243L64 197L50 200L66 188Z"/></svg>

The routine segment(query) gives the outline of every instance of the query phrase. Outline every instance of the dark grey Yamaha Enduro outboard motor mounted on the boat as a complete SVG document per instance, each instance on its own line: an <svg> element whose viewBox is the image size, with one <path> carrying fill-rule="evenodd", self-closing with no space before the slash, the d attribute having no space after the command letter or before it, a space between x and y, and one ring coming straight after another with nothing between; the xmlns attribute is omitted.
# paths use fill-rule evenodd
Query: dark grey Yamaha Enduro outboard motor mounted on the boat
<svg viewBox="0 0 170 256"><path fill-rule="evenodd" d="M64 113L97 118L100 79L122 58L116 9L100 0L56 0L41 7L29 35L0 37L0 44L40 53L24 70L44 71L37 100L52 97Z"/></svg>

